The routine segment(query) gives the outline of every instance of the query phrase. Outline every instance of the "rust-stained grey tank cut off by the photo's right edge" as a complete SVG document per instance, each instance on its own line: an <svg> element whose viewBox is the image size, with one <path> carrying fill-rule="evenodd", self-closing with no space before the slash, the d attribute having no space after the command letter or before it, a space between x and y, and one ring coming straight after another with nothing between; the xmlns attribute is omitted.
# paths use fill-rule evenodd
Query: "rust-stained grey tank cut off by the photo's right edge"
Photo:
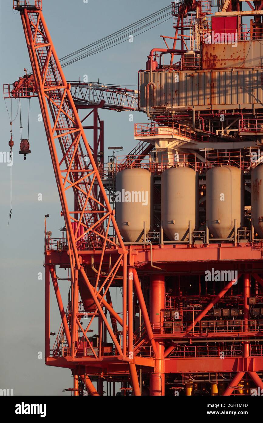
<svg viewBox="0 0 263 423"><path fill-rule="evenodd" d="M255 233L263 238L263 165L251 172L251 217Z"/></svg>

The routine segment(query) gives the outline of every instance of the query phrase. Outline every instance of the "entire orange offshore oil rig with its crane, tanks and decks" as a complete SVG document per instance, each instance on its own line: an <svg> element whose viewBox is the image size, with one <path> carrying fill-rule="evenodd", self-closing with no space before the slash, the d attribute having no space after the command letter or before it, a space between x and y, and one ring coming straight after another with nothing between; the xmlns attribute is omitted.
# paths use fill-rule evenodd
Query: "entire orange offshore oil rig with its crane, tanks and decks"
<svg viewBox="0 0 263 423"><path fill-rule="evenodd" d="M263 1L214 6L171 3L175 33L132 91L68 82L42 1L14 1L33 73L4 97L38 97L43 115L65 218L62 237L46 231L45 360L74 396L263 392ZM102 108L148 118L108 163Z"/></svg>

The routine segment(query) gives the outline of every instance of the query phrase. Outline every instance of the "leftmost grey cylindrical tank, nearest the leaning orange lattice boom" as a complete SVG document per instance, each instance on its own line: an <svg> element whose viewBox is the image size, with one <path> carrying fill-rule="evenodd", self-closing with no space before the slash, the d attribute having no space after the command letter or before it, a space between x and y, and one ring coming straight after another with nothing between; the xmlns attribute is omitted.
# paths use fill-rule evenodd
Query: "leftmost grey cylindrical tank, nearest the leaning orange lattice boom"
<svg viewBox="0 0 263 423"><path fill-rule="evenodd" d="M152 230L153 176L141 168L117 173L115 195L116 222L125 242L141 242Z"/></svg>

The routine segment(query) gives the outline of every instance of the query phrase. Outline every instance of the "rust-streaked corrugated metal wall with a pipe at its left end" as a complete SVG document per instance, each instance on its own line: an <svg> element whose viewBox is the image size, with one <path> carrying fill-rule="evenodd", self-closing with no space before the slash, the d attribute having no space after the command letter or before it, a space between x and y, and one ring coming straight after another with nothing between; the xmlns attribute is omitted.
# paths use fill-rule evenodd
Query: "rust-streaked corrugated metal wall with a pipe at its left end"
<svg viewBox="0 0 263 423"><path fill-rule="evenodd" d="M143 110L146 110L145 87L149 80L149 71L140 72ZM152 102L150 87L151 107L195 106L196 110L210 109L211 105L226 109L252 107L252 104L263 107L261 69L152 72L152 80L156 85L156 104Z"/></svg>

